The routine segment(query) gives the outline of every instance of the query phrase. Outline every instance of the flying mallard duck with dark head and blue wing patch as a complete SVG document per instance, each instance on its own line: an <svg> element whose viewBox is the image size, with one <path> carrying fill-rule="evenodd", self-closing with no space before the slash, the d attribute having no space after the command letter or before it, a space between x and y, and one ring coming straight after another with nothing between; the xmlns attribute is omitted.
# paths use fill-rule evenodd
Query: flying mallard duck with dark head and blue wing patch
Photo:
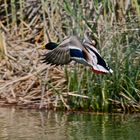
<svg viewBox="0 0 140 140"><path fill-rule="evenodd" d="M45 48L49 51L44 54L43 62L51 65L64 65L72 60L92 68L95 73L112 73L97 49L95 40L91 40L85 32L83 42L76 36L66 38L62 43L49 42Z"/></svg>

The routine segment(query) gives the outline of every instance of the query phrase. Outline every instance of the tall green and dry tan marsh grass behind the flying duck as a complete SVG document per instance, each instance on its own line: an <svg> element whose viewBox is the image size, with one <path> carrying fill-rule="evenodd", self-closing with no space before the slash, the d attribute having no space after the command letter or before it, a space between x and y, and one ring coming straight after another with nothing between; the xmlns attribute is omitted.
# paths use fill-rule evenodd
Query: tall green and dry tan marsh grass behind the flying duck
<svg viewBox="0 0 140 140"><path fill-rule="evenodd" d="M9 58L1 58L0 63L1 103L96 112L140 111L138 1L1 3L1 29ZM92 30L113 74L96 75L74 63L42 67L39 60L45 51L39 48L44 40L61 42L72 34L82 39L87 28Z"/></svg>

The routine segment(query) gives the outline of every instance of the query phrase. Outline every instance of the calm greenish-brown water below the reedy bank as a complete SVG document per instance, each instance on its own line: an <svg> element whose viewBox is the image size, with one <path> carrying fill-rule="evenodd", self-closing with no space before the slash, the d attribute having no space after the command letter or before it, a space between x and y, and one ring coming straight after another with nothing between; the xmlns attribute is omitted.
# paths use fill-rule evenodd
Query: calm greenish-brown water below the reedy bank
<svg viewBox="0 0 140 140"><path fill-rule="evenodd" d="M0 140L140 140L140 114L0 108Z"/></svg>

